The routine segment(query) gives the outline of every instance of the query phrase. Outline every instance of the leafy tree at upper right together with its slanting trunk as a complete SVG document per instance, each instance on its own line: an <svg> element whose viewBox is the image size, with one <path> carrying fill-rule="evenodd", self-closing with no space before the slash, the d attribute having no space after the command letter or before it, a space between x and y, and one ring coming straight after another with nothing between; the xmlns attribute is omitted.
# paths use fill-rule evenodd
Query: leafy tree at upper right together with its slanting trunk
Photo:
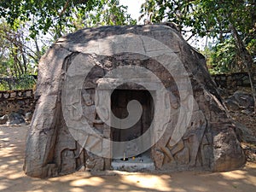
<svg viewBox="0 0 256 192"><path fill-rule="evenodd" d="M218 38L223 43L224 37L231 35L237 53L247 68L256 112L256 91L252 78L255 55L251 55L255 54L255 50L248 50L250 46L255 46L255 0L146 0L141 12L152 22L175 22L181 32L191 32L191 36Z"/></svg>

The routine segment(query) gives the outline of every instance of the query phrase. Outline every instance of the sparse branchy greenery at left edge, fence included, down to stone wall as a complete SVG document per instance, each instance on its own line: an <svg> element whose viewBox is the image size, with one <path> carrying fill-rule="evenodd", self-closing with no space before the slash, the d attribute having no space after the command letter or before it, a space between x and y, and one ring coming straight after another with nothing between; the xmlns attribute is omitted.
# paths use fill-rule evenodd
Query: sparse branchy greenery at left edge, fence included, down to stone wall
<svg viewBox="0 0 256 192"><path fill-rule="evenodd" d="M29 89L35 84L33 68L38 62L38 53L26 36L26 28L12 29L0 23L0 90ZM39 54L41 55L41 54Z"/></svg>

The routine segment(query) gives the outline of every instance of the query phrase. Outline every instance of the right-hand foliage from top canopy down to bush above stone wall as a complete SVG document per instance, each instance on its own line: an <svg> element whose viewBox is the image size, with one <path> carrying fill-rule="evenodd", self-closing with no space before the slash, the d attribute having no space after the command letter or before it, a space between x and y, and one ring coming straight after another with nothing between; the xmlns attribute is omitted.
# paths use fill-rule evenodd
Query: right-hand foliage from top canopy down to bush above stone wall
<svg viewBox="0 0 256 192"><path fill-rule="evenodd" d="M205 51L211 73L243 71L243 47L256 61L255 0L146 0L141 13L153 23L175 22L183 34L218 39Z"/></svg>

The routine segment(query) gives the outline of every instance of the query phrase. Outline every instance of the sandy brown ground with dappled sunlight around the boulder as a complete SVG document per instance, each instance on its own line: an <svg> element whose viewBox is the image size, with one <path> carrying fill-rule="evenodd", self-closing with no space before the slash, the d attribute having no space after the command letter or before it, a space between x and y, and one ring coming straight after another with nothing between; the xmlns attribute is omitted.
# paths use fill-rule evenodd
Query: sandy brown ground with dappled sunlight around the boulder
<svg viewBox="0 0 256 192"><path fill-rule="evenodd" d="M0 191L256 191L256 164L233 172L170 172L146 174L112 172L93 175L75 172L63 177L39 179L22 171L28 126L0 125Z"/></svg>

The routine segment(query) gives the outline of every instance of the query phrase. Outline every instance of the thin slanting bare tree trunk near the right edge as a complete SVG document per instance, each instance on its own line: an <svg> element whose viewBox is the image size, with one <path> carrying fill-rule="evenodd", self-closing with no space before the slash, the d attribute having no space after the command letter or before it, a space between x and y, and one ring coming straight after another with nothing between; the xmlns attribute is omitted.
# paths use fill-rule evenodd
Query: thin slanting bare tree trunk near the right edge
<svg viewBox="0 0 256 192"><path fill-rule="evenodd" d="M245 45L242 43L241 38L239 37L238 32L236 31L236 27L232 23L230 23L230 29L231 29L233 38L235 38L236 47L241 53L241 59L247 67L247 73L249 76L252 93L253 93L254 113L255 113L256 112L256 90L253 84L253 74L252 74L253 59L250 53L248 52L248 50L246 49Z"/></svg>

